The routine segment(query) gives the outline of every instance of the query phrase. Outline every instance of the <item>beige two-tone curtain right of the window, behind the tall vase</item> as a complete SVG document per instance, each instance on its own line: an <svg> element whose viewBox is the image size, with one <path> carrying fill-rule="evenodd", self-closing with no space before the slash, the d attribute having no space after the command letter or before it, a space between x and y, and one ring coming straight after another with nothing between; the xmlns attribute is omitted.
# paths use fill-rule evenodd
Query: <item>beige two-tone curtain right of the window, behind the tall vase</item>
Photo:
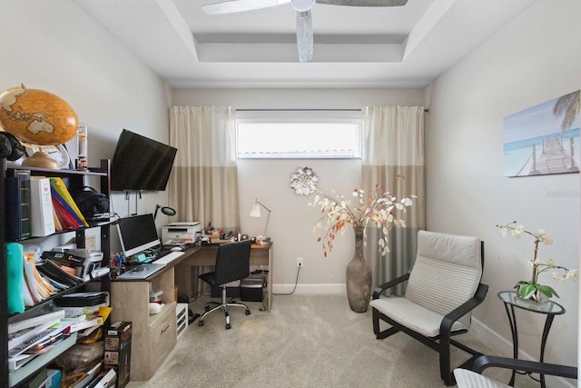
<svg viewBox="0 0 581 388"><path fill-rule="evenodd" d="M416 256L417 236L426 228L426 169L424 164L423 106L368 106L363 108L363 188L368 193L381 184L398 198L417 195L406 214L406 228L389 232L390 253L380 256L377 228L368 228L366 258L373 286L406 274ZM396 293L401 293L399 288Z"/></svg>

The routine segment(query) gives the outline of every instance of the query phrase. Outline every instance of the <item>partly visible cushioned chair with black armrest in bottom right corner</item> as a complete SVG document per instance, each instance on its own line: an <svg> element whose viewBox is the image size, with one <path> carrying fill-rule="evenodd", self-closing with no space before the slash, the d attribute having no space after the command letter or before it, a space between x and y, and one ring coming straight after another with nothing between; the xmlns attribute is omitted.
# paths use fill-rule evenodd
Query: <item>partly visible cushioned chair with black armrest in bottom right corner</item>
<svg viewBox="0 0 581 388"><path fill-rule="evenodd" d="M577 368L575 366L557 365L555 363L539 363L536 361L516 360L514 358L497 357L492 355L482 355L476 359L472 365L473 371L467 369L455 369L456 383L458 388L507 388L510 385L498 383L480 373L486 368L513 369L525 373L542 373L554 376L577 378Z"/></svg>

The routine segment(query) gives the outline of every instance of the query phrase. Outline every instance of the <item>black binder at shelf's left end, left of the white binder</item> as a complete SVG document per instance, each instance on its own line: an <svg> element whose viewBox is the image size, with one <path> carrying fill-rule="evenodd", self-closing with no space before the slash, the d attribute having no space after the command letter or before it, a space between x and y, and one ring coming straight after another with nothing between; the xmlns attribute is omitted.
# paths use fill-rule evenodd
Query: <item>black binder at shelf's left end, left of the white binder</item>
<svg viewBox="0 0 581 388"><path fill-rule="evenodd" d="M9 170L10 171L10 170ZM6 237L20 241L32 237L30 224L30 171L12 170L6 176Z"/></svg>

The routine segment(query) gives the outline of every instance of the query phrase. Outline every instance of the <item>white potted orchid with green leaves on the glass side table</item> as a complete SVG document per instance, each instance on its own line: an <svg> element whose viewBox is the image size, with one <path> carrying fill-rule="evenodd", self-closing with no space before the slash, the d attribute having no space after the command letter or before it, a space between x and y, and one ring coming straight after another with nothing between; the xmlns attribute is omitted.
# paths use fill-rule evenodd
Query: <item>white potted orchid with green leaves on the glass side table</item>
<svg viewBox="0 0 581 388"><path fill-rule="evenodd" d="M547 295L547 297L552 297L555 295L557 298L559 295L548 285L538 284L538 275L543 274L549 270L553 270L553 280L558 283L563 283L567 279L570 279L574 282L578 281L579 279L579 271L569 270L562 265L557 265L555 260L548 259L547 263L540 263L537 259L538 253L538 244L545 244L545 245L552 245L553 244L553 237L545 232L544 229L539 229L537 232L530 232L525 230L524 226L518 224L517 221L513 221L512 223L506 225L497 225L497 228L500 229L500 233L506 237L511 236L515 239L519 239L525 234L531 235L534 238L535 242L535 253L533 258L528 261L528 264L532 265L533 267L533 274L530 281L521 281L515 286L518 288L519 296L523 299L530 299L533 297L537 291Z"/></svg>

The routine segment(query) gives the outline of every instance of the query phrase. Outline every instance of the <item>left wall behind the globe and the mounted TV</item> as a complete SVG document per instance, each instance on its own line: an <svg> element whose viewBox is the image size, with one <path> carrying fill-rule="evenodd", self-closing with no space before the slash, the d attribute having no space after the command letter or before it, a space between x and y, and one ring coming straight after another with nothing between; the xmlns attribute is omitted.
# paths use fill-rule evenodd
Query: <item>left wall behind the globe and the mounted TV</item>
<svg viewBox="0 0 581 388"><path fill-rule="evenodd" d="M169 89L74 2L2 2L0 34L0 90L22 83L71 104L89 129L90 166L113 157L123 128L167 142ZM75 157L75 138L67 147ZM157 203L167 204L167 194L147 193L139 201L133 194L131 203L113 195L122 216L135 206L138 213L153 212ZM166 216L158 217L160 227L165 223ZM62 234L54 243L69 238Z"/></svg>

